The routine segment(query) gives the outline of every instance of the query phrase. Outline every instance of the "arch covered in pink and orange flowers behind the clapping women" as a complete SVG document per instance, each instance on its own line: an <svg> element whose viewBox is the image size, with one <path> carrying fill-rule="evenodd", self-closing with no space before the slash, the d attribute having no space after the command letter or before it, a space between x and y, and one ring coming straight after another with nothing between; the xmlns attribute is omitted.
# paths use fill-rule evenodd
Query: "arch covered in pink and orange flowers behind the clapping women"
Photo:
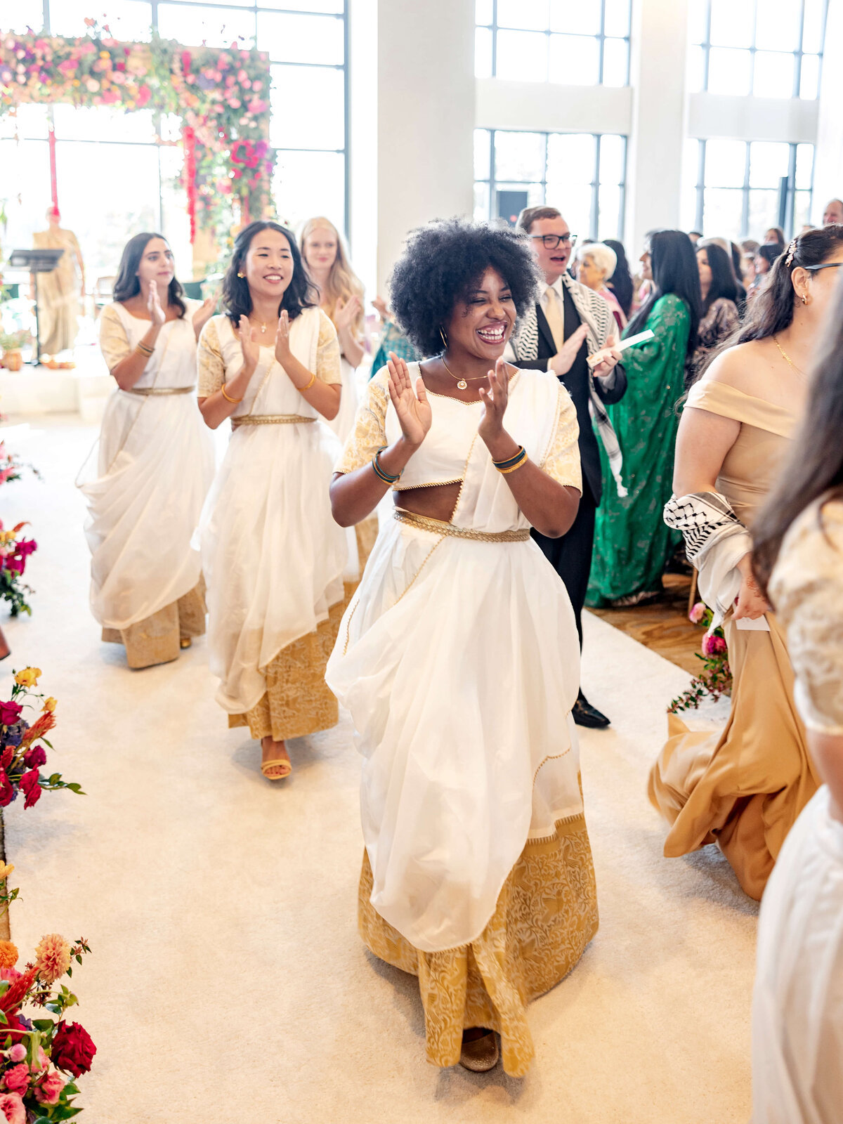
<svg viewBox="0 0 843 1124"><path fill-rule="evenodd" d="M0 33L0 116L22 102L178 114L191 241L198 225L227 242L234 201L241 221L269 214L269 56L237 43L185 48L156 34L151 43L120 43L108 25L85 25L75 39Z"/></svg>

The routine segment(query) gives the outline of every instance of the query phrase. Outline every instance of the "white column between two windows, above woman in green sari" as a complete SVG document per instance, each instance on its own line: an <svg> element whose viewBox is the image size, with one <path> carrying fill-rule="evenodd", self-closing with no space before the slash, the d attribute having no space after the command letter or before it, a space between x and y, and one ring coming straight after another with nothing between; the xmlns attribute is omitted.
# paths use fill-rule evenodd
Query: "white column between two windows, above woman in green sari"
<svg viewBox="0 0 843 1124"><path fill-rule="evenodd" d="M635 0L624 237L633 261L646 230L679 227L687 58L688 0Z"/></svg>

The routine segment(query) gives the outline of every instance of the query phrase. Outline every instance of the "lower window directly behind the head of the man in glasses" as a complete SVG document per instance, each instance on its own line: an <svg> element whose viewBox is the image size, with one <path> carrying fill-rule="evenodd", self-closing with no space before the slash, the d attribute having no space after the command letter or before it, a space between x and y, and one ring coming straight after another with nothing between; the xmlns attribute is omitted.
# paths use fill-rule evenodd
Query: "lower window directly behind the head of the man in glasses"
<svg viewBox="0 0 843 1124"><path fill-rule="evenodd" d="M474 217L547 203L589 238L624 233L626 137L474 129Z"/></svg>

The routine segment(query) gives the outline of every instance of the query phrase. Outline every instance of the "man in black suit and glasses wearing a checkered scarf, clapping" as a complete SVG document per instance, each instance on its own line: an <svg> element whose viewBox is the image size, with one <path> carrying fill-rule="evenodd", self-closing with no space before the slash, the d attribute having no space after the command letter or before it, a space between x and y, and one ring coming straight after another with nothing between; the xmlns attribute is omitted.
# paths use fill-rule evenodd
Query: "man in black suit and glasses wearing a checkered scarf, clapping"
<svg viewBox="0 0 843 1124"><path fill-rule="evenodd" d="M573 526L562 538L546 538L536 531L533 537L565 583L571 598L577 629L582 645L582 607L591 570L595 542L595 514L602 495L602 471L591 411L604 435L613 471L619 479L619 451L601 402L611 405L626 392L626 374L617 355L592 369L588 357L616 343L615 319L608 303L598 293L571 280L565 272L577 241L568 224L553 207L528 207L518 216L518 227L529 237L536 264L544 274L546 289L533 310L524 317L513 342L516 366L553 371L564 383L577 407L580 424L582 498ZM591 410L589 409L591 404ZM614 487L610 481L609 487ZM580 690L573 707L580 726L604 727L609 719L592 707Z"/></svg>

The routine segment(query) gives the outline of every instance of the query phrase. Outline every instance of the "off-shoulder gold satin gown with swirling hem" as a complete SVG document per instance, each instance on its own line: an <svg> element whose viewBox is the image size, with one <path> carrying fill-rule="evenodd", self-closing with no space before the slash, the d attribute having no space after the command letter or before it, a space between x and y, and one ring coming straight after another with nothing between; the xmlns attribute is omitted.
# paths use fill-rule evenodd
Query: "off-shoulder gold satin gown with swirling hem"
<svg viewBox="0 0 843 1124"><path fill-rule="evenodd" d="M752 522L789 452L795 413L719 382L697 383L688 406L741 423L717 490ZM691 732L668 716L668 741L650 772L653 806L671 827L664 854L678 858L717 843L743 890L759 899L796 817L818 787L805 727L794 703L785 631L724 631L733 674L732 709L719 734Z"/></svg>

